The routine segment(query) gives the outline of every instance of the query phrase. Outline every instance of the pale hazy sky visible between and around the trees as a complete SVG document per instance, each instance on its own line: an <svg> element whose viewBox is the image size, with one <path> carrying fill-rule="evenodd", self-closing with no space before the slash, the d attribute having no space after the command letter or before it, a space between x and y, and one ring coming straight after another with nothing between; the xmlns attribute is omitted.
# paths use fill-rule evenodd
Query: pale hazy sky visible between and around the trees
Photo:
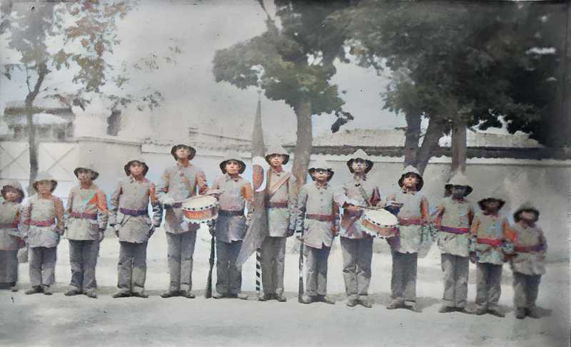
<svg viewBox="0 0 571 347"><path fill-rule="evenodd" d="M265 1L273 16L273 1ZM146 115L127 109L124 124L136 133L141 120L148 123L153 136L159 138L183 137L188 127L199 128L224 135L251 133L258 93L254 88L239 90L229 83L216 83L212 73L213 56L218 49L253 38L266 30L258 1L149 1L143 0L129 12L117 29L120 46L108 56L110 62L127 61L130 64L158 56L158 70L141 71L132 76L129 91L154 88L165 98L160 108ZM6 43L0 38L0 43ZM61 41L53 40L51 50L57 51ZM173 54L169 47L177 46L181 54ZM17 56L3 49L0 61L11 62ZM176 63L166 63L166 57ZM345 110L355 120L343 126L351 128L395 128L405 125L404 118L382 110L380 93L388 82L375 71L354 64L337 63L337 74L331 83L346 90L343 98ZM47 86L59 90L73 90L69 76L73 71L52 73ZM25 76L15 73L11 81L0 78L0 106L6 101L23 100L26 93ZM95 107L95 106L94 106ZM105 113L106 110L92 110ZM295 115L282 101L262 98L264 132L285 141L295 140ZM313 117L314 136L330 131L334 115ZM165 126L174 125L174 126Z"/></svg>

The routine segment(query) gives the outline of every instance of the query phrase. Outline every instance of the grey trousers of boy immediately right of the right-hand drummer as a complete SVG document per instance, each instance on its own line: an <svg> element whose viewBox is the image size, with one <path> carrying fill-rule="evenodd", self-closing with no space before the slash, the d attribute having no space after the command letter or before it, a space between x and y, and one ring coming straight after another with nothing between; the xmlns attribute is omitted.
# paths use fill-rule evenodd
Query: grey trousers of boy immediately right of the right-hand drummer
<svg viewBox="0 0 571 347"><path fill-rule="evenodd" d="M416 301L417 253L400 253L394 250L393 271L390 278L391 299Z"/></svg>

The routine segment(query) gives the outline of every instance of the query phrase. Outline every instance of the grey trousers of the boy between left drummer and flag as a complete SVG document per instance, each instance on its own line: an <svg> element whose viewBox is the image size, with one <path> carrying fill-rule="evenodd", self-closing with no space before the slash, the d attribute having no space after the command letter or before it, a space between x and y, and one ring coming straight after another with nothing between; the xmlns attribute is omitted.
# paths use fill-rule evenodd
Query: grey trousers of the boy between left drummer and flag
<svg viewBox="0 0 571 347"><path fill-rule="evenodd" d="M216 291L218 294L239 294L242 288L242 266L236 266L242 241L216 240Z"/></svg>

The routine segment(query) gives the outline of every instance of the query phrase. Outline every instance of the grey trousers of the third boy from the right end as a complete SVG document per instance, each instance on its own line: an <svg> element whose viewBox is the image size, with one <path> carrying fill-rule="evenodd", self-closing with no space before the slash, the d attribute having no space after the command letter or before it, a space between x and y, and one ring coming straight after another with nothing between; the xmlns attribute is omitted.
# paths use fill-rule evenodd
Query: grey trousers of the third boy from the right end
<svg viewBox="0 0 571 347"><path fill-rule="evenodd" d="M463 308L468 299L468 257L441 254L444 271L443 303L446 306Z"/></svg>

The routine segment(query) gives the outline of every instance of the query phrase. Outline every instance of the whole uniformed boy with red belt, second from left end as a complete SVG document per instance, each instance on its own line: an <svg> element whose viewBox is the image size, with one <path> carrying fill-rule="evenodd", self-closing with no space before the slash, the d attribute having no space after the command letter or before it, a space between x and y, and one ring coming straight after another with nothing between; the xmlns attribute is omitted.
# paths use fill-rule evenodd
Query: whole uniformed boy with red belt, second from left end
<svg viewBox="0 0 571 347"><path fill-rule="evenodd" d="M32 183L36 194L22 206L21 232L30 257L31 289L26 294L51 295L50 286L56 281L56 249L64 234L64 205L51 194L57 185L47 172L40 172Z"/></svg>

